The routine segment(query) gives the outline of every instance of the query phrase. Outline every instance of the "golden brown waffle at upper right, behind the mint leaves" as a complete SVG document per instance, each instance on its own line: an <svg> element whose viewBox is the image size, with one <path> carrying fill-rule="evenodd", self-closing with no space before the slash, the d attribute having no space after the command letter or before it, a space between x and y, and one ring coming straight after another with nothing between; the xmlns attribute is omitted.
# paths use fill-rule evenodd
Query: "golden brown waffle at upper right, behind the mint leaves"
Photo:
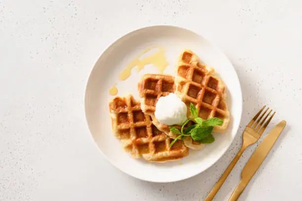
<svg viewBox="0 0 302 201"><path fill-rule="evenodd" d="M214 132L224 133L229 123L226 103L226 86L215 76L215 70L199 62L199 58L190 50L182 52L175 78L176 92L188 106L193 103L198 109L199 117L220 118L223 125L215 126Z"/></svg>

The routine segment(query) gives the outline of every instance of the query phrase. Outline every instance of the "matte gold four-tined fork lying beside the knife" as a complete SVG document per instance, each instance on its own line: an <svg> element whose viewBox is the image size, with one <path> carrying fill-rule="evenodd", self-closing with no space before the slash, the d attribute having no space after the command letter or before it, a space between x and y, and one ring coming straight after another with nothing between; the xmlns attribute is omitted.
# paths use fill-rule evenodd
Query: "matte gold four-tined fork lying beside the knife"
<svg viewBox="0 0 302 201"><path fill-rule="evenodd" d="M244 150L250 146L251 144L254 144L257 142L257 140L260 138L260 136L263 134L264 130L266 129L267 125L269 124L270 120L273 118L276 112L273 112L273 114L268 118L268 120L265 122L269 114L272 112L270 110L267 114L268 107L265 109L264 113L260 116L262 111L264 110L265 106L255 115L255 117L250 121L250 123L247 125L243 132L243 143L241 146L240 151L237 153L233 161L228 165L227 169L223 173L223 175L220 177L220 179L215 184L212 191L209 193L205 201L212 201L217 192L219 191L220 187L224 184L224 182L227 179L227 176L233 169L233 167L236 165L237 161L239 160L240 156L244 152ZM265 115L266 114L266 115ZM264 117L265 115L265 117ZM260 116L260 118L258 118ZM263 119L264 117L264 119ZM257 120L258 119L258 120ZM263 119L263 120L262 120ZM257 121L256 121L257 120ZM261 121L262 120L262 121ZM261 121L261 122L260 122ZM259 123L260 122L260 123ZM265 123L264 123L265 122Z"/></svg>

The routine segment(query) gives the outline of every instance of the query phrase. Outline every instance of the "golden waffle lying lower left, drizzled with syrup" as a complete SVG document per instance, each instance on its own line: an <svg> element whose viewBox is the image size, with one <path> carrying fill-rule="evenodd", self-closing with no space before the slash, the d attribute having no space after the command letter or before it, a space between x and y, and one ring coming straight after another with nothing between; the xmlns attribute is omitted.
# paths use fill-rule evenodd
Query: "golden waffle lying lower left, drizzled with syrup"
<svg viewBox="0 0 302 201"><path fill-rule="evenodd" d="M182 140L169 147L173 139L152 124L151 116L143 113L140 102L131 95L114 98L109 103L109 108L113 134L121 140L123 148L132 157L166 162L189 154L189 149Z"/></svg>

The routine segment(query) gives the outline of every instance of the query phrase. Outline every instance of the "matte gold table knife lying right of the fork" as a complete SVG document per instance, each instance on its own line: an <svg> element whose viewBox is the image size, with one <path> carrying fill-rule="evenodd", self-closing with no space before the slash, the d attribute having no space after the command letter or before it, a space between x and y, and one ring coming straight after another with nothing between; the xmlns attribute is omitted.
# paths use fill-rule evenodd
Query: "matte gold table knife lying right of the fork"
<svg viewBox="0 0 302 201"><path fill-rule="evenodd" d="M228 201L236 201L239 198L257 169L264 161L264 158L267 156L269 150L274 145L285 126L286 121L281 121L277 126L275 126L275 128L273 128L273 130L271 130L271 132L267 134L261 144L257 147L256 151L243 168L241 172L241 181L239 182L238 186L236 187Z"/></svg>

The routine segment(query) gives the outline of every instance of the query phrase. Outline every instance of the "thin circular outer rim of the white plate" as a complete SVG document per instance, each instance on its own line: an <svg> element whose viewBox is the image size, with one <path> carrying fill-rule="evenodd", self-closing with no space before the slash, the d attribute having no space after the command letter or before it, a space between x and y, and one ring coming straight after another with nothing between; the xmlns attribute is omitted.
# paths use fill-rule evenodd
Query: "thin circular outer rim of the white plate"
<svg viewBox="0 0 302 201"><path fill-rule="evenodd" d="M240 97L240 116L238 117L238 125L233 125L234 128L236 128L236 134L233 135L233 137L231 138L231 141L229 143L229 145L227 145L225 147L225 150L223 151L223 154L218 157L216 160L214 160L214 162L212 164L209 164L207 165L202 171L196 171L195 173L193 174L190 174L189 176L187 177L180 177L180 178L177 178L175 177L176 179L170 179L170 180L151 180L151 179L145 179L145 178L141 178L141 177L138 177L136 176L135 174L132 174L132 173L129 173L129 172L126 172L124 171L122 168L119 168L117 166L115 166L115 164L103 153L103 151L100 149L100 147L98 146L96 140L94 139L94 136L92 134L92 131L90 129L90 126L89 126L89 123L88 123L88 114L87 114L87 88L88 88L88 84L89 84L89 81L92 77L92 74L95 70L95 67L97 66L97 64L102 60L102 56L110 49L112 48L112 46L114 46L118 41L120 41L122 38L126 37L127 35L129 34L132 34L132 33L135 33L135 32L138 32L138 31L141 31L141 30L144 30L144 29L152 29L152 28L160 28L160 27L165 27L165 28L177 28L177 29L181 29L181 30L184 30L184 31L187 31L187 32L191 32L191 33L194 33L198 36L200 36L201 38L203 38L204 40L206 40L212 47L214 47L216 50L218 50L220 53L222 53L222 56L226 58L227 62L230 64L230 66L232 67L232 69L234 70L235 72L235 75L236 75L236 78L237 78L237 81L238 81L238 84L239 84L239 94L238 94L238 97ZM189 179L193 176L196 176L197 174L200 174L201 172L204 172L206 171L208 168L212 167L214 164L216 164L219 159L221 159L223 157L223 155L227 152L227 150L229 149L229 147L231 146L232 142L234 141L236 135L237 135L237 132L238 132L238 129L239 129L239 126L240 126L240 123L241 123L241 118L242 118L242 109L243 109L243 97L242 97L242 88L241 88L241 83L240 83L240 79L238 77L238 74L234 68L234 66L232 65L231 61L228 59L227 55L214 43L212 42L211 40L209 40L208 38L204 37L203 35L199 34L198 32L195 32L195 31L192 31L190 29L187 29L187 28L184 28L184 27L180 27L180 26L175 26L175 25L166 25L166 24L159 24L159 25L151 25L151 26L144 26L144 27L140 27L140 28L136 28L130 32L126 32L126 33L122 33L120 36L118 36L115 40L113 40L113 42L109 43L109 45L101 52L100 56L98 57L97 61L95 62L95 64L93 65L90 73L89 73L89 76L86 80L86 86L85 86L85 96L84 96L84 110L85 110L85 119L86 119L86 125L88 127L88 130L89 130L89 136L93 139L93 142L94 142L94 145L97 147L97 149L99 150L99 152L101 152L101 154L115 167L117 168L118 170L124 172L125 174L127 175L130 175L134 178L137 178L137 179L140 179L140 180L143 180L143 181L149 181L149 182L156 182L156 183L168 183L168 182L176 182L176 181L182 181L182 180L185 180L185 179ZM134 159L135 160L135 159Z"/></svg>

